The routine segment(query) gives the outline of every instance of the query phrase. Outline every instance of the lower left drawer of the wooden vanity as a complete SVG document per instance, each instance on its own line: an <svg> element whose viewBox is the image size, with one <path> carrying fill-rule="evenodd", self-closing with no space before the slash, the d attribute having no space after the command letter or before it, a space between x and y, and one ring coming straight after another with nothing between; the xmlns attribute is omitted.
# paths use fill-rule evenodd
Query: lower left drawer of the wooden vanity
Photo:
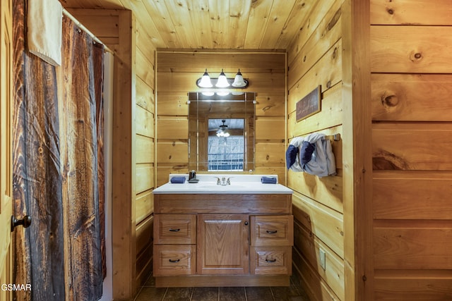
<svg viewBox="0 0 452 301"><path fill-rule="evenodd" d="M196 245L155 245L154 276L196 274Z"/></svg>

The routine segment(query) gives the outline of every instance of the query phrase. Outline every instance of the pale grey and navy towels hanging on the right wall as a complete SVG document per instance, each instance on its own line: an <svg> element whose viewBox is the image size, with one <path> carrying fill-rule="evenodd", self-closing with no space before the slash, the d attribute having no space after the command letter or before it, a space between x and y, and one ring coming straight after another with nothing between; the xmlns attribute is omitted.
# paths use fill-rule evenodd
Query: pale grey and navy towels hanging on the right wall
<svg viewBox="0 0 452 301"><path fill-rule="evenodd" d="M304 171L319 177L335 175L336 165L331 141L323 140L323 137L324 134L314 133L307 137L292 139L290 145L299 149L299 152L295 163L289 168L292 171Z"/></svg>

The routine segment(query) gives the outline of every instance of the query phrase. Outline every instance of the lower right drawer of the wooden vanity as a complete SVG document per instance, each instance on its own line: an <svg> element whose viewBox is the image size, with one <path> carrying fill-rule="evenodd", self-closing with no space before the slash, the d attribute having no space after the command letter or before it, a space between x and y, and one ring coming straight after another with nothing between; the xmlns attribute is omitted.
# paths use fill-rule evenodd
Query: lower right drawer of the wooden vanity
<svg viewBox="0 0 452 301"><path fill-rule="evenodd" d="M291 275L292 247L251 247L251 274Z"/></svg>

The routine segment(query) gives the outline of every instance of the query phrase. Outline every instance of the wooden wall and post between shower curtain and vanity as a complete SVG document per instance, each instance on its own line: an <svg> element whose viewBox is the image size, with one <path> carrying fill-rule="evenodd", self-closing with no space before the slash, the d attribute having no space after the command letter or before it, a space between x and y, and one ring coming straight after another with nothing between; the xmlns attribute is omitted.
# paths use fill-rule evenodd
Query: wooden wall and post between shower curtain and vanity
<svg viewBox="0 0 452 301"><path fill-rule="evenodd" d="M113 297L126 300L152 267L155 46L130 11L68 11L115 54Z"/></svg>

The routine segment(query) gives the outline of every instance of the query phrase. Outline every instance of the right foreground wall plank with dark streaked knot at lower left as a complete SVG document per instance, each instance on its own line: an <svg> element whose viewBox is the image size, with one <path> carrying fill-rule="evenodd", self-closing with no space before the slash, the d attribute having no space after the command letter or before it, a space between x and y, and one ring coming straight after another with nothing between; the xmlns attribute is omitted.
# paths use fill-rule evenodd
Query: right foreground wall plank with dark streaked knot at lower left
<svg viewBox="0 0 452 301"><path fill-rule="evenodd" d="M439 123L374 124L374 170L450 171L452 125Z"/></svg>

